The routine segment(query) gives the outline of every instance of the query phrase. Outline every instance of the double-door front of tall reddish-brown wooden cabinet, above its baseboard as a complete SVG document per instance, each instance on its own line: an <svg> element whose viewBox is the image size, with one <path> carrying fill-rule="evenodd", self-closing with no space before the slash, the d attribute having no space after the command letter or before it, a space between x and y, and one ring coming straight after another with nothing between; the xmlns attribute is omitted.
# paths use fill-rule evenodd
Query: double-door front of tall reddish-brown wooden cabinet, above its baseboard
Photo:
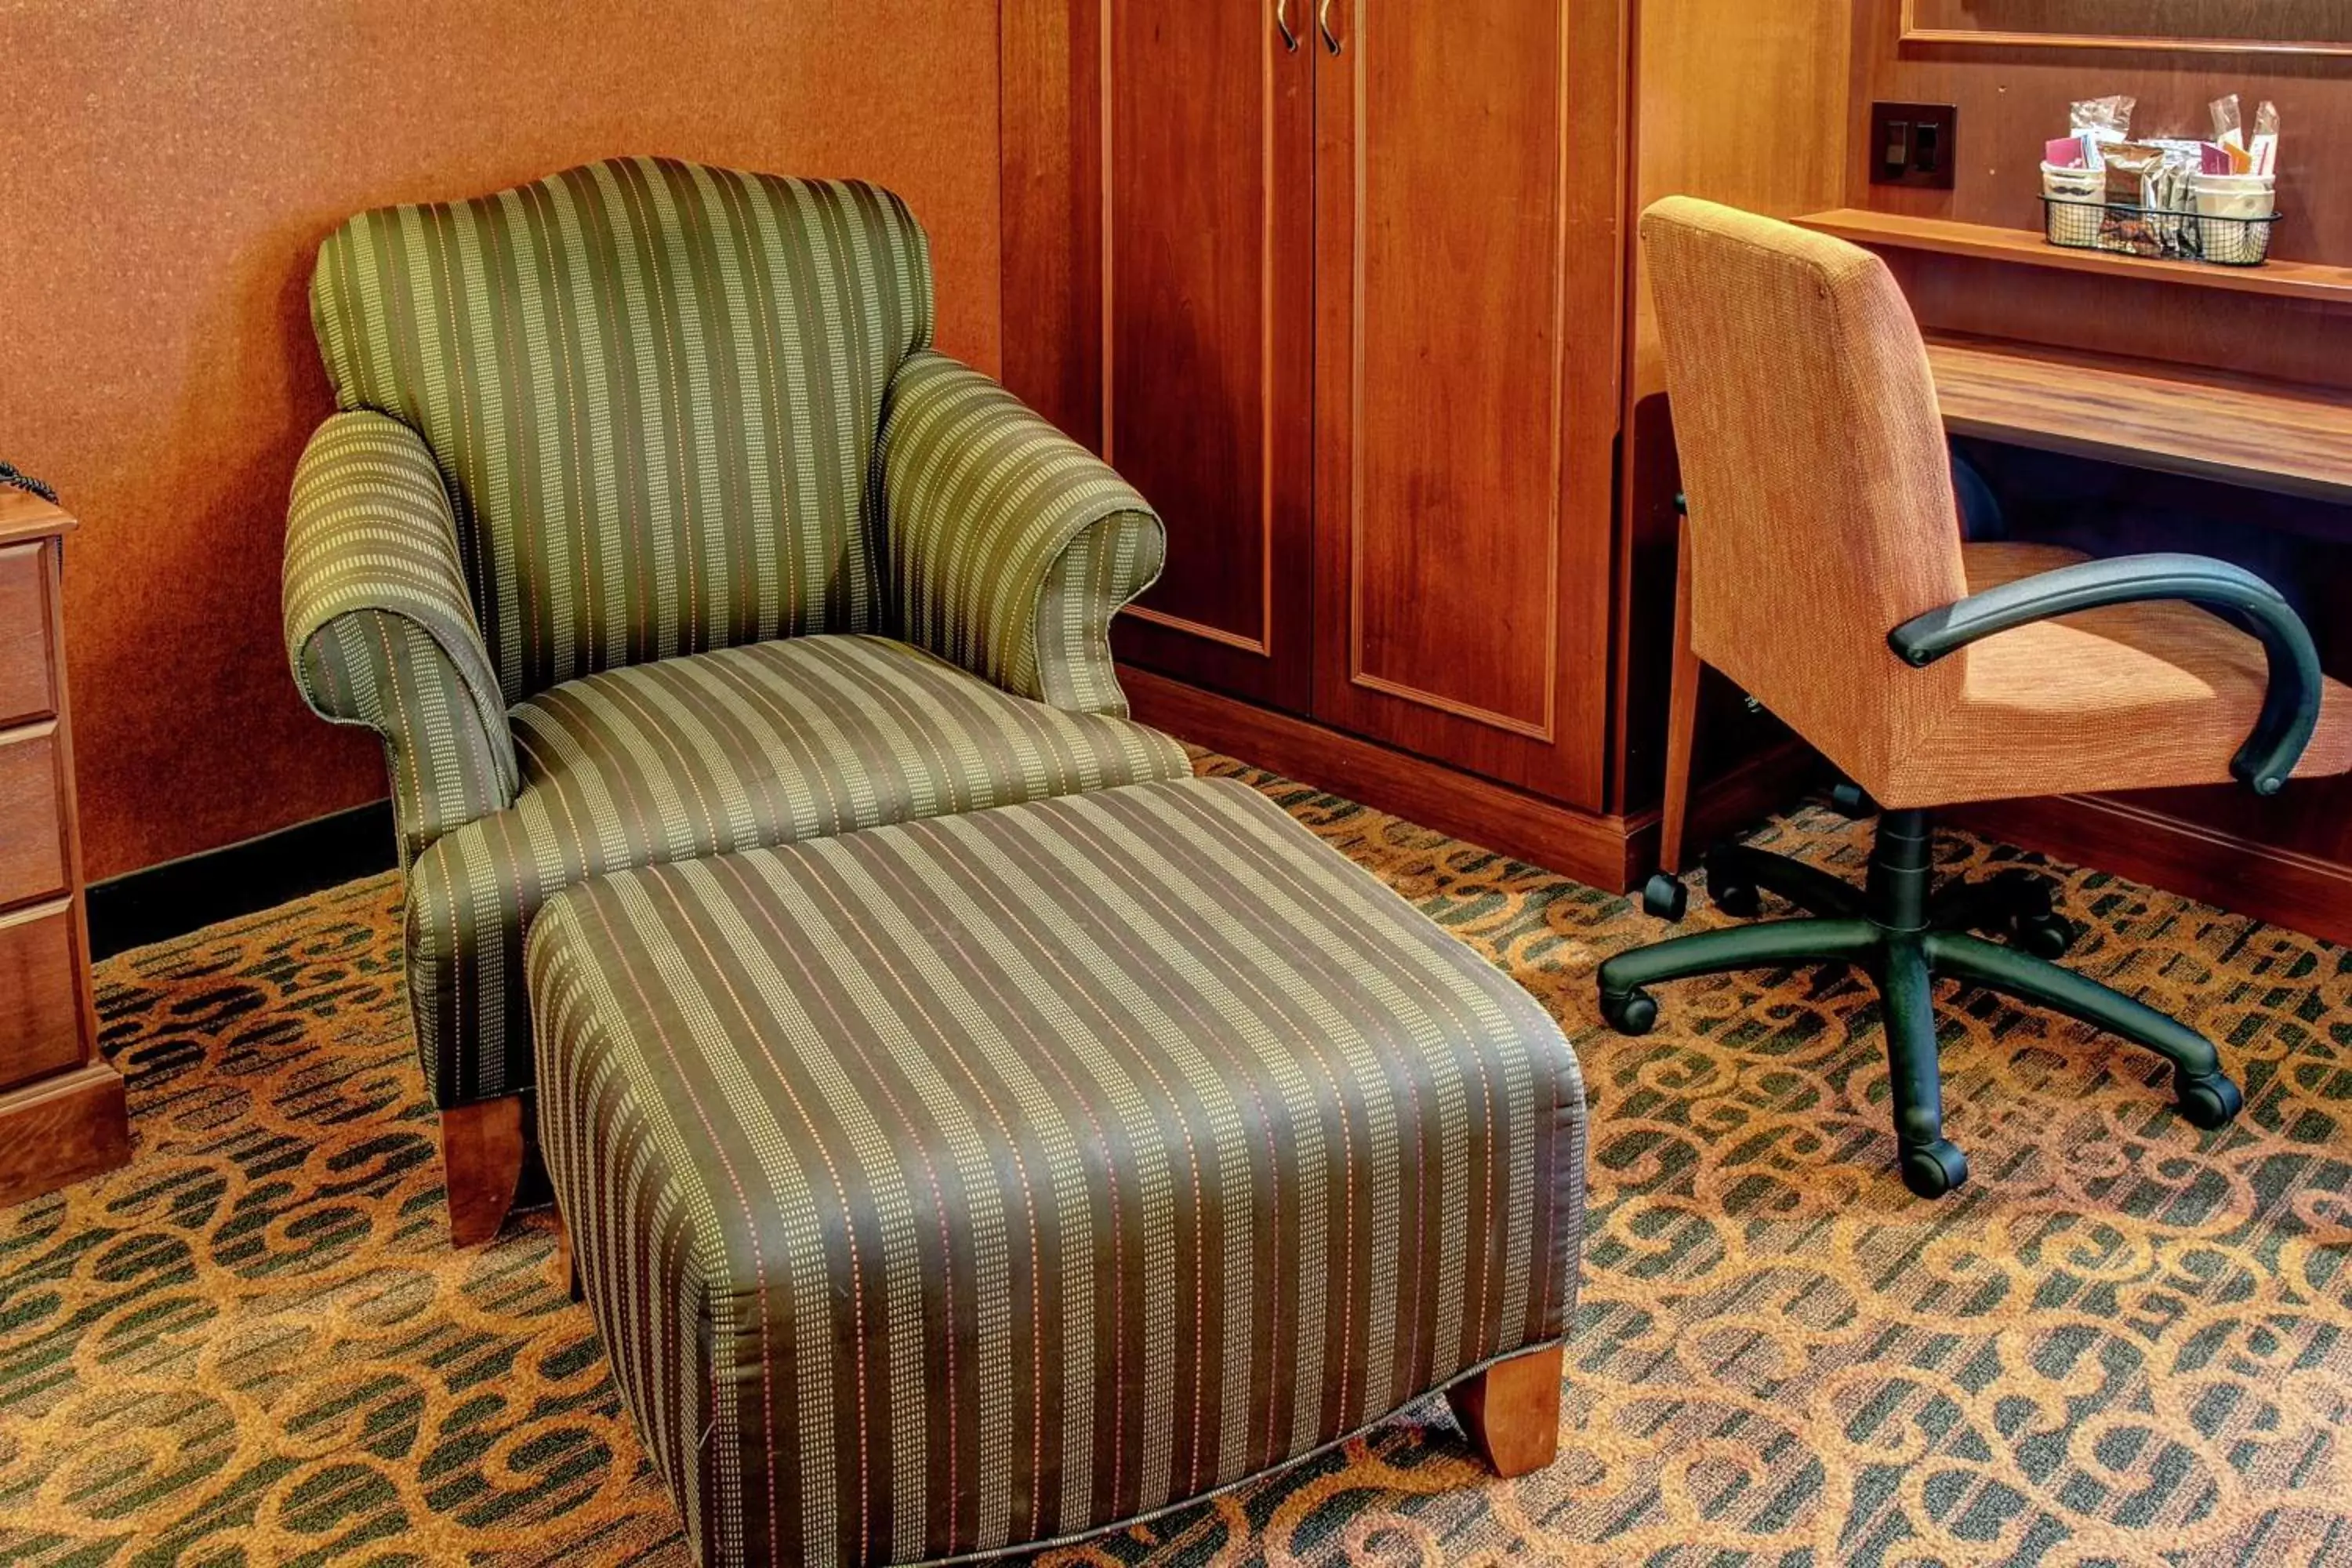
<svg viewBox="0 0 2352 1568"><path fill-rule="evenodd" d="M1120 656L1597 811L1616 9L1004 28L1007 301L1075 327L1004 371L1169 524Z"/></svg>

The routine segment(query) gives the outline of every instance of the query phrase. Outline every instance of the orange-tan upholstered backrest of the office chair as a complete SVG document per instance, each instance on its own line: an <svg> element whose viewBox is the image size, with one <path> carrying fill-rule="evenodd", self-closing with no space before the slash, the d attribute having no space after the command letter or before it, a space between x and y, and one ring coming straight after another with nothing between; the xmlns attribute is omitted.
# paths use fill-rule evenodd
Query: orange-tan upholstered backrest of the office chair
<svg viewBox="0 0 2352 1568"><path fill-rule="evenodd" d="M1691 508L1691 642L1849 773L1950 708L1966 654L1886 632L1966 595L1919 327L1842 240L1712 202L1642 216Z"/></svg>

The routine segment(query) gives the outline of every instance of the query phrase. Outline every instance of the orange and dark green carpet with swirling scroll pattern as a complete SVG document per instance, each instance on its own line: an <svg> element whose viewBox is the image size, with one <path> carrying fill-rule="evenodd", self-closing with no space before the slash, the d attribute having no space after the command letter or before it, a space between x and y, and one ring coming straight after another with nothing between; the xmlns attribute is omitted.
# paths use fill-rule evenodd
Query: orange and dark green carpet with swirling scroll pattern
<svg viewBox="0 0 2352 1568"><path fill-rule="evenodd" d="M2154 1058L1969 994L1945 1041L1973 1180L1929 1206L1889 1171L1853 978L1675 987L1625 1041L1590 971L1658 933L1630 905L1244 776L1583 1056L1564 1453L1498 1486L1432 1403L1049 1561L2352 1561L2352 954L2065 875L2074 961L2218 1037L2246 1114L2201 1138ZM1856 875L1865 835L1809 809L1762 837ZM99 971L139 1152L0 1211L0 1563L682 1561L546 1215L440 1241L395 898Z"/></svg>

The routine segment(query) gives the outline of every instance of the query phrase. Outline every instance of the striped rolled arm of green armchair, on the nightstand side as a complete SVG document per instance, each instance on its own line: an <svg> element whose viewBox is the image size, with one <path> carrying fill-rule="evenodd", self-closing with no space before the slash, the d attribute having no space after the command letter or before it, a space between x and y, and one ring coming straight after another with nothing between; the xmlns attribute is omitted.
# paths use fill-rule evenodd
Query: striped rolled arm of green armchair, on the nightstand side
<svg viewBox="0 0 2352 1568"><path fill-rule="evenodd" d="M303 449L287 505L285 639L310 710L381 736L402 865L515 802L515 738L449 491L400 421L336 414Z"/></svg>

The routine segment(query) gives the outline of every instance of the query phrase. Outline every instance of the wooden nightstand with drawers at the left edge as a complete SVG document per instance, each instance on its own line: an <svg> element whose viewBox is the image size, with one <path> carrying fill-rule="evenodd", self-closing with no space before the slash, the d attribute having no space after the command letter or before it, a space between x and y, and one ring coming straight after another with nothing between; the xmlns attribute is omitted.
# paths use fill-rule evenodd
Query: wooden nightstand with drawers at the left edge
<svg viewBox="0 0 2352 1568"><path fill-rule="evenodd" d="M99 1056L59 592L73 517L0 487L0 1206L129 1159Z"/></svg>

